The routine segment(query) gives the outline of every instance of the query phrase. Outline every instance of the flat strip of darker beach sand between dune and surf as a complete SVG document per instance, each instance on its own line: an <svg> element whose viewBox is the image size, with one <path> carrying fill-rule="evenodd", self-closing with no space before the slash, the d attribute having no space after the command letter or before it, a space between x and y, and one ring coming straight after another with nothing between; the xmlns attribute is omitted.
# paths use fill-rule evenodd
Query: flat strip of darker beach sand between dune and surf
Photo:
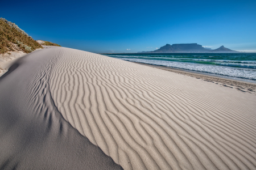
<svg viewBox="0 0 256 170"><path fill-rule="evenodd" d="M131 62L131 61L129 61L129 62ZM185 71L185 70L181 70L181 69L174 69L171 67L151 65L151 64L147 64L147 63L141 63L141 62L133 62L133 63L138 63L140 65L149 66L149 67L154 67L156 69L171 71L171 72L177 73L177 74L191 76L196 79L202 79L207 82L220 84L221 86L224 86L224 87L236 88L238 91L249 92L250 94L256 95L256 84L255 83L243 82L241 80L222 78L222 77L212 76L212 75L207 75L207 74L193 73L192 71Z"/></svg>

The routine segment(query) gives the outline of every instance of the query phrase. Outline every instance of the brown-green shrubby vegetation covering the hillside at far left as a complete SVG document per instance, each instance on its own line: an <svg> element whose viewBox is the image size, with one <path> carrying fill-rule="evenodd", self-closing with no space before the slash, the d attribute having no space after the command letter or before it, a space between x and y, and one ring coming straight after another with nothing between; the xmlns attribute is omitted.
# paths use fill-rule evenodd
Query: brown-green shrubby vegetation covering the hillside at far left
<svg viewBox="0 0 256 170"><path fill-rule="evenodd" d="M15 50L30 53L38 48L43 47L18 25L0 18L0 54Z"/></svg>

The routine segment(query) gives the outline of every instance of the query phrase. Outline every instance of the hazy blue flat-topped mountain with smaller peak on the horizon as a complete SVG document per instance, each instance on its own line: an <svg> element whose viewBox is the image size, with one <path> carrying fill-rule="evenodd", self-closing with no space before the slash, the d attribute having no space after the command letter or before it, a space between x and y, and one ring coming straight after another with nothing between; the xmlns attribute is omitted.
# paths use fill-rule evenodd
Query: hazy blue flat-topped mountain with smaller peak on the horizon
<svg viewBox="0 0 256 170"><path fill-rule="evenodd" d="M138 53L227 53L227 52L237 52L228 48L225 48L223 45L217 49L204 48L202 45L197 43L191 44L166 44L161 48L154 50L152 52L138 52Z"/></svg>

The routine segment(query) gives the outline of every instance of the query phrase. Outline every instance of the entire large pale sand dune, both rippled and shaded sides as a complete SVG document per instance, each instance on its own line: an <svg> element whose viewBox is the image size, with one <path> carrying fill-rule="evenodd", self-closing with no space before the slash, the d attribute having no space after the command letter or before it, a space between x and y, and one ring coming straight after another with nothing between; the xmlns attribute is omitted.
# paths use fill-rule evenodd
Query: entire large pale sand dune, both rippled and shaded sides
<svg viewBox="0 0 256 170"><path fill-rule="evenodd" d="M255 94L61 47L9 70L0 169L256 169Z"/></svg>

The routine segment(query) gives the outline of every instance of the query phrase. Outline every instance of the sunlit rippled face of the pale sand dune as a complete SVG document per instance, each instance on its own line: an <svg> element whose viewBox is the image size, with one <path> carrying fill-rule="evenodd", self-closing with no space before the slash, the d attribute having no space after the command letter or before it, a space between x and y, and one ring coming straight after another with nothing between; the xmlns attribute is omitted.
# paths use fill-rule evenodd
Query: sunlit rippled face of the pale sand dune
<svg viewBox="0 0 256 170"><path fill-rule="evenodd" d="M42 82L64 119L124 169L256 169L255 95L68 48L35 74L30 99Z"/></svg>

